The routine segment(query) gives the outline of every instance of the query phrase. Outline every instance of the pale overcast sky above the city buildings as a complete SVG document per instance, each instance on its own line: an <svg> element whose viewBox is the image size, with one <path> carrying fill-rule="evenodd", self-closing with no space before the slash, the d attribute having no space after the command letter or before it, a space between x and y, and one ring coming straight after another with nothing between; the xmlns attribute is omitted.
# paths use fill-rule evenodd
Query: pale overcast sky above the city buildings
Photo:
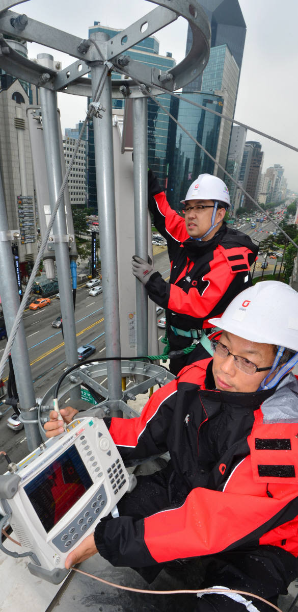
<svg viewBox="0 0 298 612"><path fill-rule="evenodd" d="M8 2L7 2L8 3ZM298 2L297 0L239 0L247 26L235 119L298 146ZM29 0L12 10L50 26L88 37L94 21L104 26L125 29L150 12L154 4L146 0ZM156 32L159 53L172 51L180 62L185 56L187 21L175 23ZM67 67L74 60L60 51L28 43L29 58L37 53L51 53ZM84 120L87 99L59 94L62 130ZM264 151L263 171L274 163L285 168L288 187L298 192L298 153L272 143L253 132L247 140L257 140Z"/></svg>

